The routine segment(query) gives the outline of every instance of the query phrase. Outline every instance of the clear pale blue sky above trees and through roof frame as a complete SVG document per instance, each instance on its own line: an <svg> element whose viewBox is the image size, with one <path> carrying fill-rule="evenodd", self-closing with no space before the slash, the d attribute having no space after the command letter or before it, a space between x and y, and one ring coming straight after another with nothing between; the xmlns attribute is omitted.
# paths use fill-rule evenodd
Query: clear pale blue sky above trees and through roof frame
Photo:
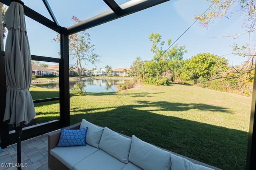
<svg viewBox="0 0 256 170"><path fill-rule="evenodd" d="M23 2L50 19L46 8L42 8L41 0L23 0ZM76 4L70 4L68 0L48 0L48 2L59 24L64 27L72 25L72 15L86 20L109 10L102 0L74 1ZM117 2L122 4L127 0L117 0ZM65 9L64 11L60 9L60 5L62 9ZM101 63L96 64L96 68L104 68L106 65L112 66L113 69L130 67L138 56L142 57L142 60L152 59L154 55L150 51L152 42L148 40L152 32L160 33L164 41L171 38L174 42L194 22L194 15L202 14L208 6L210 3L206 0L171 0L88 29L91 42L96 46L95 52L101 55ZM188 53L184 55L184 59L191 58L198 53L226 55L232 52L231 44L246 43L247 37L232 39L220 36L242 32L241 23L237 14L230 19L218 18L208 29L196 22L176 43L186 46ZM27 17L26 25L31 54L59 58L60 47L52 42L56 33ZM213 38L213 36L220 38ZM166 45L165 49L167 48ZM233 65L243 61L242 57L233 55L226 56L226 59ZM91 69L95 66L89 64L85 67Z"/></svg>

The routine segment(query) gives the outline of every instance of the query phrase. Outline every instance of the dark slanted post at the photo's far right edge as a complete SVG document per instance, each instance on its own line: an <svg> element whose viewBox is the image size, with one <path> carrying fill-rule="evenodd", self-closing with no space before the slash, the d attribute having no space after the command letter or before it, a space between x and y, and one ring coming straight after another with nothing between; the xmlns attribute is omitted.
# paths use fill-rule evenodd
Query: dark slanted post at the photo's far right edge
<svg viewBox="0 0 256 170"><path fill-rule="evenodd" d="M248 148L247 148L247 157L246 157L246 170L255 170L256 169L256 119L255 119L255 110L256 110L256 74L254 74L254 83L252 90L252 105L251 105L251 117L250 117L250 126L249 126L249 137L248 137Z"/></svg>

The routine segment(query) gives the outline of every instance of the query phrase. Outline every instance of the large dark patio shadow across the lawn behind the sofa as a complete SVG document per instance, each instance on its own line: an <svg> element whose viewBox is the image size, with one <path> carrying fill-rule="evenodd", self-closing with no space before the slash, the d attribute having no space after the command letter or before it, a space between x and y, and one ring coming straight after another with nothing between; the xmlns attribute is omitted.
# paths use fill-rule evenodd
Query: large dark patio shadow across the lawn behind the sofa
<svg viewBox="0 0 256 170"><path fill-rule="evenodd" d="M184 109L183 107L185 107L179 104L177 106L177 103L175 105L176 108ZM199 109L205 107L200 104L198 106ZM148 110L136 109L138 107L142 106L111 107L108 111L103 112L97 111L102 108L96 108L94 113L88 113L92 109L76 110L71 111L75 114L71 113L70 120L74 124L86 119L96 125L107 126L128 136L135 135L153 145L218 168L227 170L245 168L247 132L173 116L159 115ZM196 107L197 104L188 104L188 109ZM210 108L212 111L218 110L228 113L227 109L222 107L212 106ZM228 167L227 165L233 166Z"/></svg>

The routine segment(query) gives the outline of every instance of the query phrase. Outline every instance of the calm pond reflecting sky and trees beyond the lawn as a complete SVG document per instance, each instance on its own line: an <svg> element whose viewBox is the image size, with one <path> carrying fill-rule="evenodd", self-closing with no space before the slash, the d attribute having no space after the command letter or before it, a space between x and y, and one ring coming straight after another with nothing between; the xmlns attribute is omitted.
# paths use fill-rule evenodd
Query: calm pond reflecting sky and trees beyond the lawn
<svg viewBox="0 0 256 170"><path fill-rule="evenodd" d="M82 80L82 87L85 92L113 92L119 84L124 84L126 80L104 80L104 79L87 79ZM76 87L76 82L69 82L69 91ZM41 88L59 89L59 82L49 82L33 84L33 86Z"/></svg>

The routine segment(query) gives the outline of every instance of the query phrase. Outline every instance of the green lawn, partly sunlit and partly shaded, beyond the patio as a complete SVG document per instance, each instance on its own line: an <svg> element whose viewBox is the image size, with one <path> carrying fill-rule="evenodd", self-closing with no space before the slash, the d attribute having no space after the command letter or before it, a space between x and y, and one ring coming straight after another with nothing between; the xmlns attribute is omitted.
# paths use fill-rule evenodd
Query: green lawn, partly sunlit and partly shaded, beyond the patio
<svg viewBox="0 0 256 170"><path fill-rule="evenodd" d="M58 96L30 91L33 99ZM245 169L251 98L181 84L124 92L70 94L71 124L87 119L224 170ZM38 122L59 119L58 102L35 109Z"/></svg>

